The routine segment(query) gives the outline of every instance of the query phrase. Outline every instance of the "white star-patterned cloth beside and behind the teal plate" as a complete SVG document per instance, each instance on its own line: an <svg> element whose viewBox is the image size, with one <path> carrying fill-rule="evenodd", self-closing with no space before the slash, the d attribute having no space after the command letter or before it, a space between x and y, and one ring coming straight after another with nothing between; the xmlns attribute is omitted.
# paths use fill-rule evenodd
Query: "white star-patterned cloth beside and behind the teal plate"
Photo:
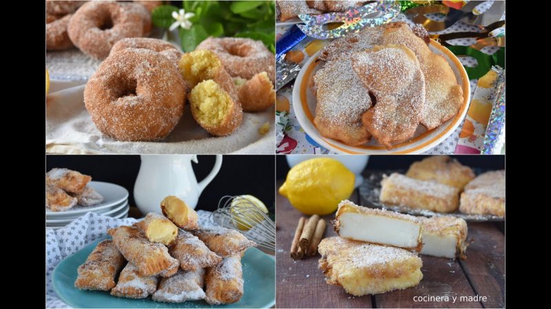
<svg viewBox="0 0 551 309"><path fill-rule="evenodd" d="M213 225L211 212L198 210L198 221L201 227ZM46 308L71 308L67 306L52 287L54 268L67 256L79 251L90 242L105 237L107 230L121 225L132 225L134 218L115 219L101 214L88 212L75 219L66 227L54 231L46 229Z"/></svg>

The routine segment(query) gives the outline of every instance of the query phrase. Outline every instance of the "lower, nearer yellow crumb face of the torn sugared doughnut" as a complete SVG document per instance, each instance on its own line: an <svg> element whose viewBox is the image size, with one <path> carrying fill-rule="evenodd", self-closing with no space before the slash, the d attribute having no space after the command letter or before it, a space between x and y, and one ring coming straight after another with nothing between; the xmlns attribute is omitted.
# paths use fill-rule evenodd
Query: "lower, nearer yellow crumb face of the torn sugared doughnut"
<svg viewBox="0 0 551 309"><path fill-rule="evenodd" d="M189 95L191 110L197 122L207 126L218 126L230 112L231 98L214 80L197 84Z"/></svg>

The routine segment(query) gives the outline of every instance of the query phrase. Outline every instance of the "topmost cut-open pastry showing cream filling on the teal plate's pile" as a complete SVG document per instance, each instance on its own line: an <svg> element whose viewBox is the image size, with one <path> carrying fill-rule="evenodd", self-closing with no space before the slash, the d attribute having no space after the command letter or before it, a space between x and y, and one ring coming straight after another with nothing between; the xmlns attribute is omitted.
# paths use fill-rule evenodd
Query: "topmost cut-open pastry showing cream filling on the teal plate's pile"
<svg viewBox="0 0 551 309"><path fill-rule="evenodd" d="M199 229L197 213L180 198L172 195L165 197L160 202L160 209L180 229Z"/></svg>

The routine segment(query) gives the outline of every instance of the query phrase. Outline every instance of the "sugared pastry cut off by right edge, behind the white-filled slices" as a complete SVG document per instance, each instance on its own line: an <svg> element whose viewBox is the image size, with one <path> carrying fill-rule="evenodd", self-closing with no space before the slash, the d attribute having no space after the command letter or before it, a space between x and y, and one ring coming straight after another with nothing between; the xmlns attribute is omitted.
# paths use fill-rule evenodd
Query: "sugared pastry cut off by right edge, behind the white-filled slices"
<svg viewBox="0 0 551 309"><path fill-rule="evenodd" d="M461 193L459 211L464 214L505 216L505 170L480 174Z"/></svg>

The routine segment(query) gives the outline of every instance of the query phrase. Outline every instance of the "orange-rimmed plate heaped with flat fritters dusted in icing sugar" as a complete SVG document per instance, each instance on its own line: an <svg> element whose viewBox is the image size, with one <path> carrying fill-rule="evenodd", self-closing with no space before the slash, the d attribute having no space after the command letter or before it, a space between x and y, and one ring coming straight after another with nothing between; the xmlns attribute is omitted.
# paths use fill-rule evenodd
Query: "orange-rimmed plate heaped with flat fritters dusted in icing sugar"
<svg viewBox="0 0 551 309"><path fill-rule="evenodd" d="M302 67L293 110L324 148L349 154L420 153L461 124L467 73L422 25L366 27L326 45Z"/></svg>

